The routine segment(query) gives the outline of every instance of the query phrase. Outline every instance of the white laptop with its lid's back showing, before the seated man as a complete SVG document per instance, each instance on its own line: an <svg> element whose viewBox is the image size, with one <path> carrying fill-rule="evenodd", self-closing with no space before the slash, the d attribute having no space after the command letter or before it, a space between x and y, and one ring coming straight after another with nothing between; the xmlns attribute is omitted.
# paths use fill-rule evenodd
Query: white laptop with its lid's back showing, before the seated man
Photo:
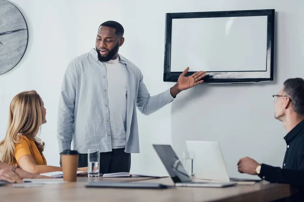
<svg viewBox="0 0 304 202"><path fill-rule="evenodd" d="M261 179L231 178L216 141L186 141L188 151L195 153L195 177L222 182L259 182Z"/></svg>

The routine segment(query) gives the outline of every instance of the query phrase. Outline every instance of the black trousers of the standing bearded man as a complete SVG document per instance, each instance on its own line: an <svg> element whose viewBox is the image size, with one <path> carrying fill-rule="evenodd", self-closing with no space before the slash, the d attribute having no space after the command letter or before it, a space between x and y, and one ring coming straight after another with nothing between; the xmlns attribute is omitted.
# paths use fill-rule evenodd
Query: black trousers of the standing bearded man
<svg viewBox="0 0 304 202"><path fill-rule="evenodd" d="M131 154L125 153L125 148L112 149L112 151L100 153L99 173L130 172ZM78 167L88 166L88 154L79 154Z"/></svg>

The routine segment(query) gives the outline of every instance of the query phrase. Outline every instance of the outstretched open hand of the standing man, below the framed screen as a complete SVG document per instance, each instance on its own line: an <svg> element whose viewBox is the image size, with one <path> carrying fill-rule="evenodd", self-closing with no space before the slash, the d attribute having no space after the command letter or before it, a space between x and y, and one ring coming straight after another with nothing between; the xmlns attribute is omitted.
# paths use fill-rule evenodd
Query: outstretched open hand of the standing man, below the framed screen
<svg viewBox="0 0 304 202"><path fill-rule="evenodd" d="M194 73L191 76L186 76L189 71L189 67L187 67L178 77L177 83L171 88L171 95L175 97L180 91L186 90L188 88L192 88L199 83L204 82L202 78L206 76L205 71L199 71Z"/></svg>

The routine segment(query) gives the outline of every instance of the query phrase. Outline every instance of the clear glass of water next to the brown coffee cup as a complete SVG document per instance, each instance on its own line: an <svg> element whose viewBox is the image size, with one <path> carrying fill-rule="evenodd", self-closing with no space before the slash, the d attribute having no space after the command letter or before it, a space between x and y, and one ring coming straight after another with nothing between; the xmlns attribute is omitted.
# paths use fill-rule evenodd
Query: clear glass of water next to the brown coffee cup
<svg viewBox="0 0 304 202"><path fill-rule="evenodd" d="M99 177L99 149L88 150L88 177Z"/></svg>

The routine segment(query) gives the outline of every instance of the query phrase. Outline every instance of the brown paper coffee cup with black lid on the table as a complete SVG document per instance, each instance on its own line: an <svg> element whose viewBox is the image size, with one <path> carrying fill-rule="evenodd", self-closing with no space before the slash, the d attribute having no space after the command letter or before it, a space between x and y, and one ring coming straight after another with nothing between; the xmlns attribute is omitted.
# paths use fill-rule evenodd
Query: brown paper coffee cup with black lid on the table
<svg viewBox="0 0 304 202"><path fill-rule="evenodd" d="M64 181L75 182L77 180L78 156L77 150L64 150L61 153Z"/></svg>

